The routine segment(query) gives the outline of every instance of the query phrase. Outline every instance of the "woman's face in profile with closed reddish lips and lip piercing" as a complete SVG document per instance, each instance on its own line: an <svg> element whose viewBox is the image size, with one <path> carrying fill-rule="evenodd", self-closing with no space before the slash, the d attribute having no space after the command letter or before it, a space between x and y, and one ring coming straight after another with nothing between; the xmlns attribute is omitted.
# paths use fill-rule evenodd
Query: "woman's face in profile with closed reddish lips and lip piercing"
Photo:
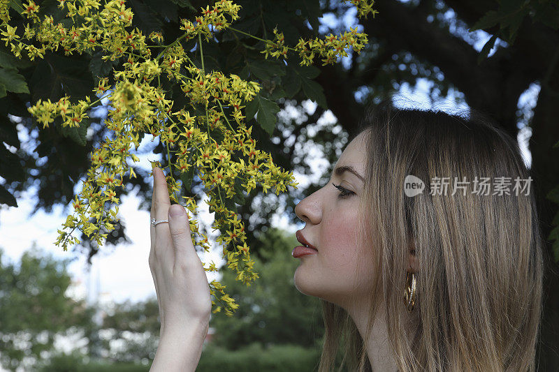
<svg viewBox="0 0 559 372"><path fill-rule="evenodd" d="M296 288L339 306L347 303L349 295L368 295L371 290L372 247L357 237L358 207L365 186L361 179L365 177L364 137L361 133L347 145L328 184L295 207L296 215L305 222L300 234L318 251L298 258L301 262L293 276ZM361 282L358 288L356 278Z"/></svg>

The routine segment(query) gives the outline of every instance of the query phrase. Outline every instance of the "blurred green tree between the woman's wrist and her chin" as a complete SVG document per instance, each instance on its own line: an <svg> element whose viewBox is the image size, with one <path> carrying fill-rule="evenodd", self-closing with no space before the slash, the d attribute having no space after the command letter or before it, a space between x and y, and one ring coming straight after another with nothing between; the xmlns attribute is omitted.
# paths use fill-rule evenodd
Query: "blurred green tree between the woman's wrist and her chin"
<svg viewBox="0 0 559 372"><path fill-rule="evenodd" d="M215 328L212 345L238 350L250 343L263 345L294 344L315 347L324 336L319 299L302 295L293 283L300 264L291 251L298 242L293 235L270 229L259 239L259 251L266 257L259 265L260 278L247 287L225 271L221 283L240 307L232 318L212 316Z"/></svg>

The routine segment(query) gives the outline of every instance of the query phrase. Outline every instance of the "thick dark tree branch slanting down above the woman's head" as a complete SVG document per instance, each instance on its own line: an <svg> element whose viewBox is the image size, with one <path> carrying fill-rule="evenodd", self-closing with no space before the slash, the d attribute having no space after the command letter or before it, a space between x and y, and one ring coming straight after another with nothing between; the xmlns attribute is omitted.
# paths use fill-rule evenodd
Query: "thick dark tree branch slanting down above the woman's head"
<svg viewBox="0 0 559 372"><path fill-rule="evenodd" d="M376 6L379 16L363 24L367 34L438 66L447 80L465 93L470 107L490 114L516 137L516 104L535 78L533 73L517 70L516 61L507 50L498 50L478 64L478 52L472 45L436 22L427 21L427 6L412 8L398 1L384 1Z"/></svg>

